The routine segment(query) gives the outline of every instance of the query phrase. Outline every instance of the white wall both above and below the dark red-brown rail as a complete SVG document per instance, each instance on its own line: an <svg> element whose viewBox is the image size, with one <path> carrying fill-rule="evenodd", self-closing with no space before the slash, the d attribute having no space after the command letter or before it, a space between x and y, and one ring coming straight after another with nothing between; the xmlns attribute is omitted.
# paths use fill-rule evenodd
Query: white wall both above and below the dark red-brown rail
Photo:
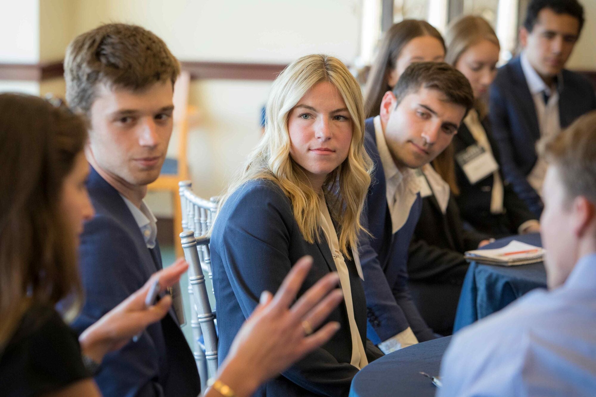
<svg viewBox="0 0 596 397"><path fill-rule="evenodd" d="M289 63L326 52L350 63L359 50L360 8L361 0L77 0L73 36L126 22L156 33L180 60ZM246 80L191 85L190 102L201 117L189 136L188 158L199 194L221 193L260 138L260 108L270 87ZM149 200L157 213L168 211L166 197Z"/></svg>

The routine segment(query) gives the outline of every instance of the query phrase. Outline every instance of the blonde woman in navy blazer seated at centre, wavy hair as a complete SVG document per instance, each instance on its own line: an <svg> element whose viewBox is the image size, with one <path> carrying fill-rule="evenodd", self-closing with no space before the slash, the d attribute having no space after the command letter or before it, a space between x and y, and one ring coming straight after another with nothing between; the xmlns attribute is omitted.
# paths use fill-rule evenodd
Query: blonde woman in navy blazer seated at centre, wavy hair
<svg viewBox="0 0 596 397"><path fill-rule="evenodd" d="M257 395L347 395L359 368L382 355L366 339L362 272L354 255L358 234L365 232L359 219L371 170L362 94L341 61L308 55L275 80L266 120L265 135L224 196L211 236L219 357L228 354L261 291L277 290L293 263L310 255L313 266L298 299L324 275L339 271L342 278L343 272L344 304L328 318L340 329Z"/></svg>

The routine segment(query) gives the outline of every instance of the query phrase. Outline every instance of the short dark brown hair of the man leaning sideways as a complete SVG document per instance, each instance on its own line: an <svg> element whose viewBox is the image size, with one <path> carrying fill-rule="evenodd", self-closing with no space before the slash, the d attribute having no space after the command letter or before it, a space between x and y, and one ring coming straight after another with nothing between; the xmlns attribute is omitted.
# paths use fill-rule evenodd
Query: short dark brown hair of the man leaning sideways
<svg viewBox="0 0 596 397"><path fill-rule="evenodd" d="M421 87L442 92L447 101L465 108L465 113L474 104L474 94L468 79L445 62L415 62L403 71L393 88L397 105L406 95L417 92Z"/></svg>

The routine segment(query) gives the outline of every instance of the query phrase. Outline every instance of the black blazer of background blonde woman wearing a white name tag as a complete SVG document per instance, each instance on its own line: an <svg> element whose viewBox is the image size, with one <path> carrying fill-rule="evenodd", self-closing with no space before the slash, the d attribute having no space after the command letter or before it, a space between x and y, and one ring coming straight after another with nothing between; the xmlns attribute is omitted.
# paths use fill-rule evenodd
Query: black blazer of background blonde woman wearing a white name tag
<svg viewBox="0 0 596 397"><path fill-rule="evenodd" d="M482 126L485 129L493 155L500 168L499 148L492 136L488 118L482 121ZM455 154L476 143L476 139L474 139L468 127L465 123L461 123L460 129L452 141ZM505 213L493 214L491 213L493 176L486 176L482 181L471 185L460 164L455 159L454 162L455 176L458 187L460 188L460 194L455 197L455 201L460 208L461 218L473 228L492 237L499 238L518 234L517 229L520 225L530 219L536 219L536 216L528 209L527 204L517 196L517 193L513 190L513 186L508 181L505 181L501 169L499 169L499 173L504 184L503 207Z"/></svg>

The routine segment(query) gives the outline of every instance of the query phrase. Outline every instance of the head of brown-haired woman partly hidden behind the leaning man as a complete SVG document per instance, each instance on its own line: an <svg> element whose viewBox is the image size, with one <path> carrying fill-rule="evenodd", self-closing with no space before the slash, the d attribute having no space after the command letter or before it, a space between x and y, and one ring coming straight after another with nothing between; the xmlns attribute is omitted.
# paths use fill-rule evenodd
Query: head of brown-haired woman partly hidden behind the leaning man
<svg viewBox="0 0 596 397"><path fill-rule="evenodd" d="M445 43L438 30L422 20L406 19L385 32L364 88L366 118L378 116L381 100L412 62L441 62Z"/></svg>

